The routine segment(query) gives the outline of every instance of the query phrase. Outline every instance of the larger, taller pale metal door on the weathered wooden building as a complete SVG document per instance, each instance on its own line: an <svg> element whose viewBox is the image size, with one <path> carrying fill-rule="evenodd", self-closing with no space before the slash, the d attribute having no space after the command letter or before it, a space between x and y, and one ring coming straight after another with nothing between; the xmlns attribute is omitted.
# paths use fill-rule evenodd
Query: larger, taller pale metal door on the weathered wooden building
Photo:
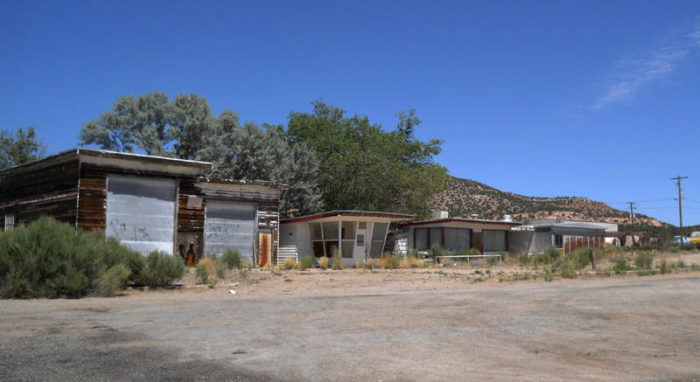
<svg viewBox="0 0 700 382"><path fill-rule="evenodd" d="M105 233L143 254L172 253L176 193L174 180L109 176Z"/></svg>

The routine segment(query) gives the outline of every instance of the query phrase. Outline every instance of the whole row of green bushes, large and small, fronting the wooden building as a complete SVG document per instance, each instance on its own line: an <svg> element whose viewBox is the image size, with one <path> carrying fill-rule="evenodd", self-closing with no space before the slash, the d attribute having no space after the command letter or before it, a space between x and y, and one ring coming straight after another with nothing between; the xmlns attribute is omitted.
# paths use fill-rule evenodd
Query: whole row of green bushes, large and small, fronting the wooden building
<svg viewBox="0 0 700 382"><path fill-rule="evenodd" d="M145 258L100 231L43 217L0 233L0 297L113 296L128 284L164 287L184 274L179 258Z"/></svg>

